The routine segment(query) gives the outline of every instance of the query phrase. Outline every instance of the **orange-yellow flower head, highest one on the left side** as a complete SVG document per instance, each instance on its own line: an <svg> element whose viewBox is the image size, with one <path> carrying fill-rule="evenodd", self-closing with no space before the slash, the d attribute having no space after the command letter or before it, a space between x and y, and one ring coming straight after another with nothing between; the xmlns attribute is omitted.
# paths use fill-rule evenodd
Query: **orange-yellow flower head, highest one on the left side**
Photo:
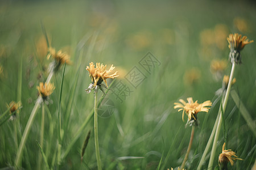
<svg viewBox="0 0 256 170"><path fill-rule="evenodd" d="M59 67L63 65L65 62L70 65L71 61L69 60L69 55L67 53L63 53L61 50L56 52L56 50L52 47L49 48L49 54L47 55L47 59L50 57L53 57L55 59L55 62L53 63L53 69L55 71L59 70Z"/></svg>

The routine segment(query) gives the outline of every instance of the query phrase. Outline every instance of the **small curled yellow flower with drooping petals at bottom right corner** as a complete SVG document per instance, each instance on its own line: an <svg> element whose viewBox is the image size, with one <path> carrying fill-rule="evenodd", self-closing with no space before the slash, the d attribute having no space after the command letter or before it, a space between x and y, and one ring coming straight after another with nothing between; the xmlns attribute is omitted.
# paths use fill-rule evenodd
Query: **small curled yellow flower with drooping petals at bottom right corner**
<svg viewBox="0 0 256 170"><path fill-rule="evenodd" d="M233 152L232 150L225 150L226 143L222 146L222 153L218 156L218 163L221 166L226 166L228 162L233 166L234 161L233 160L243 160L241 158L237 158L236 152ZM234 157L232 157L234 156Z"/></svg>

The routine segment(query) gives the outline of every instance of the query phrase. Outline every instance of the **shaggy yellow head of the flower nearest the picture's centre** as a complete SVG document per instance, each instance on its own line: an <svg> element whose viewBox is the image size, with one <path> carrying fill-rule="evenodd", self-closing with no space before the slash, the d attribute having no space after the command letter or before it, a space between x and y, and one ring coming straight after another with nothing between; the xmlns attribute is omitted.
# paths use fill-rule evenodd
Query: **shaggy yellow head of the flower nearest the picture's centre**
<svg viewBox="0 0 256 170"><path fill-rule="evenodd" d="M115 67L113 67L112 65L109 70L106 70L106 65L104 66L100 62L96 63L96 67L93 64L93 62L90 62L89 66L86 67L86 70L89 71L89 76L92 79L93 87L95 87L96 85L100 85L102 81L104 81L106 83L106 86L108 87L106 79L114 79L117 76L119 76L117 74L118 71L115 71L115 73L110 74L114 69Z"/></svg>

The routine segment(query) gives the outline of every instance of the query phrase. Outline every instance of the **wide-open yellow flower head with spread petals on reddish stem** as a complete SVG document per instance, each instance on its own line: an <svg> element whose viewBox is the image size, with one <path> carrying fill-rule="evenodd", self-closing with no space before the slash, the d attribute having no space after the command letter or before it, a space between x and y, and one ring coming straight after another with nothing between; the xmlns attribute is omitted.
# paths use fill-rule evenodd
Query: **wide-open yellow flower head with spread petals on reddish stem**
<svg viewBox="0 0 256 170"><path fill-rule="evenodd" d="M196 114L199 112L207 112L209 111L210 108L207 108L207 106L211 106L212 103L210 102L210 100L204 101L204 103L197 103L197 100L193 101L192 97L188 97L187 98L188 103L186 103L184 100L180 99L180 103L174 103L175 106L174 108L180 108L179 111L183 110L182 113L182 120L184 121L184 112L187 114L188 116L188 120L196 120ZM179 112L178 111L178 112Z"/></svg>

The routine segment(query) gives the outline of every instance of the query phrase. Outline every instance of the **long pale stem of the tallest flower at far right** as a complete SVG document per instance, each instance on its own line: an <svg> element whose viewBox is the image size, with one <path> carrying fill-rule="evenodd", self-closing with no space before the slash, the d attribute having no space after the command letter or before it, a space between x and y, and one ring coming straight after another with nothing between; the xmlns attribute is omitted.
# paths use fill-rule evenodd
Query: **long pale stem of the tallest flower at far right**
<svg viewBox="0 0 256 170"><path fill-rule="evenodd" d="M236 63L233 62L231 73L230 73L230 76L229 76L228 88L226 90L226 95L225 95L224 101L222 103L224 113L225 113L225 110L226 110L226 104L228 103L228 99L229 99L229 94L230 94L230 89L231 89L231 85L232 85L232 80L233 80L235 68L236 68ZM210 160L209 160L209 164L208 164L208 169L212 169L212 167L213 167L213 162L214 162L215 152L216 152L216 147L217 147L217 142L218 142L218 135L220 135L221 124L222 124L222 117L221 117L221 114L220 114L220 118L218 119L218 125L217 125L217 129L216 129L216 133L215 133L215 136L214 136L212 152L210 152Z"/></svg>

